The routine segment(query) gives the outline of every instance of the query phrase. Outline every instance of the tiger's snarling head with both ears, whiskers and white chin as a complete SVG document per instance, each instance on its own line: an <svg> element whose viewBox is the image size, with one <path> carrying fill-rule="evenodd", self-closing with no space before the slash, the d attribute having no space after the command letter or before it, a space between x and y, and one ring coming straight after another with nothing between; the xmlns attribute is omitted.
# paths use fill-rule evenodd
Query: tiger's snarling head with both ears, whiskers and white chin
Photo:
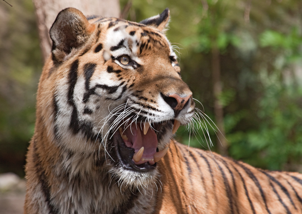
<svg viewBox="0 0 302 214"><path fill-rule="evenodd" d="M156 162L195 106L165 36L168 22L168 8L140 23L86 18L74 8L57 16L37 117L66 151L63 167L71 173L101 165L128 185L156 179Z"/></svg>

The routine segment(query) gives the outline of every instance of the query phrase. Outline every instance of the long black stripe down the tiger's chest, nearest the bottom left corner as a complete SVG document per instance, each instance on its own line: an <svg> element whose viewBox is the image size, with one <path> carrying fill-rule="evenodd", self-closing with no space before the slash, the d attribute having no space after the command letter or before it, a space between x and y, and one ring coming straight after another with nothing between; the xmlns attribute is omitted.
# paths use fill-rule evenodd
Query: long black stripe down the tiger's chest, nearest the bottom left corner
<svg viewBox="0 0 302 214"><path fill-rule="evenodd" d="M51 203L50 185L48 183L48 179L47 179L45 170L43 170L42 162L40 160L40 156L38 154L36 144L37 144L37 142L34 140L33 141L33 160L35 163L35 169L36 169L37 176L39 177L38 181L41 184L41 187L42 187L41 190L45 196L45 202L47 203L47 207L50 211L49 214L59 213L59 209L56 208L55 206L53 206L53 204Z"/></svg>

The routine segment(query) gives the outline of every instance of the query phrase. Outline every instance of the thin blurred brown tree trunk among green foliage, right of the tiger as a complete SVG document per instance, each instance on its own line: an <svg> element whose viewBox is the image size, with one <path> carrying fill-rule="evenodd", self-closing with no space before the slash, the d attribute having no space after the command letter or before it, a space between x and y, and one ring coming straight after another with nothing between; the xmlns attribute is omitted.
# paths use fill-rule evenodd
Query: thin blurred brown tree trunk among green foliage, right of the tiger
<svg viewBox="0 0 302 214"><path fill-rule="evenodd" d="M212 80L214 94L214 113L218 127L217 132L217 147L221 155L227 156L227 143L225 139L224 124L223 124L223 106L220 104L219 96L222 91L220 81L220 57L217 47L212 48Z"/></svg>

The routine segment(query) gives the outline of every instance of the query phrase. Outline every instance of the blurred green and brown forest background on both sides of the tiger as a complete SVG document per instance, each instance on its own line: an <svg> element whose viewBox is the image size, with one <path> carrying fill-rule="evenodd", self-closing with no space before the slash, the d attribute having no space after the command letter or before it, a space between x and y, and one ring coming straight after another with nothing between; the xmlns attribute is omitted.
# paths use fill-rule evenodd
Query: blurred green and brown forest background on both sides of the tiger
<svg viewBox="0 0 302 214"><path fill-rule="evenodd" d="M24 177L43 59L33 3L8 2L13 7L0 2L0 173ZM225 136L214 123L204 123L211 151L263 169L302 173L302 2L120 0L131 21L167 7L167 37L182 78ZM208 149L205 129L187 128L176 139Z"/></svg>

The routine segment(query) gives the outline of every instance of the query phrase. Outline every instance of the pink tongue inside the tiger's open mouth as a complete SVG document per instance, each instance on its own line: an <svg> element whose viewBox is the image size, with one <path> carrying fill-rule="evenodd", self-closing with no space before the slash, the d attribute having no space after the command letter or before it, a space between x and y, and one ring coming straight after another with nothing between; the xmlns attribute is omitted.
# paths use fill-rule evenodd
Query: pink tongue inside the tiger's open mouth
<svg viewBox="0 0 302 214"><path fill-rule="evenodd" d="M142 158L151 159L156 153L157 136L154 130L151 128L149 128L146 135L144 135L142 129L143 128L140 127L140 124L137 124L137 126L132 125L131 127L128 127L126 130L124 130L124 134L127 135L128 141L130 141L132 145L130 145L129 142L125 143L128 147L132 147L135 152L138 152L141 147L144 147ZM143 163L145 162L147 161L143 161ZM141 161L138 164L141 164Z"/></svg>

